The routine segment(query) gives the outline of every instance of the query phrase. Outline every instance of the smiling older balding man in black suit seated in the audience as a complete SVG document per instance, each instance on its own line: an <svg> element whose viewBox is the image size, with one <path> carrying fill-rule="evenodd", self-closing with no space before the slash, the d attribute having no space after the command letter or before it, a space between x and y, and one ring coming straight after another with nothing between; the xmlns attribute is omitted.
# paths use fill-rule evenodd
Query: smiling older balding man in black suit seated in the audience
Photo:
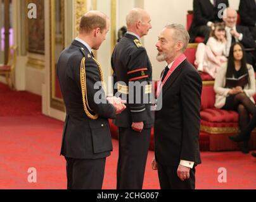
<svg viewBox="0 0 256 202"><path fill-rule="evenodd" d="M226 35L227 35L227 45L226 45L226 53L227 57L229 56L229 50L231 44L234 42L240 42L245 47L246 51L246 60L249 64L252 64L254 71L255 67L255 49L256 44L253 39L252 33L248 30L247 27L236 25L238 19L238 13L236 10L227 8L224 10L224 18L223 21L226 24ZM252 53L253 52L253 53Z"/></svg>

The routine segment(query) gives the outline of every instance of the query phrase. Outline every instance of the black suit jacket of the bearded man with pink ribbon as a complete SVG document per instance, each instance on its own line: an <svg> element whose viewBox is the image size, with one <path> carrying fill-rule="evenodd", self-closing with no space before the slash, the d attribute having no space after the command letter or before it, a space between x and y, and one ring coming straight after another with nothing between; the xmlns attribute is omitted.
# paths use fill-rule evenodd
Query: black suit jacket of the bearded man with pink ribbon
<svg viewBox="0 0 256 202"><path fill-rule="evenodd" d="M181 160L201 163L201 93L200 75L187 60L163 85L162 109L155 112L155 157L162 165L177 166Z"/></svg>

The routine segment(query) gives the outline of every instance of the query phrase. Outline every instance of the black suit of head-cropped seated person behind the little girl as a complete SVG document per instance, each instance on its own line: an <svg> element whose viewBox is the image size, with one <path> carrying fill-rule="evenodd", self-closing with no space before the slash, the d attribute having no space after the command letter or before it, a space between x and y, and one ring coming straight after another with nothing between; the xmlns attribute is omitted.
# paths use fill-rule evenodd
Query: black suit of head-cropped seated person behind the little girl
<svg viewBox="0 0 256 202"><path fill-rule="evenodd" d="M216 5L224 3L229 7L228 0L216 0ZM208 21L218 22L222 19L218 18L220 9L214 7L210 0L194 0L193 1L193 21L189 28L191 42L195 40L198 33L198 28L202 25L207 25Z"/></svg>

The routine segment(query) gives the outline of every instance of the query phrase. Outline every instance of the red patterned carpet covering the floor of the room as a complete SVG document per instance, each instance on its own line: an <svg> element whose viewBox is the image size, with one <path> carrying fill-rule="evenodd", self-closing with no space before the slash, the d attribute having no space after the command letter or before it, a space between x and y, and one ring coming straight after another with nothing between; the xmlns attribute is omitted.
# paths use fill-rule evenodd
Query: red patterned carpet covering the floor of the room
<svg viewBox="0 0 256 202"><path fill-rule="evenodd" d="M10 92L0 83L0 189L65 189L65 160L59 156L63 122L41 114L41 97ZM107 158L104 189L115 189L118 143ZM144 189L159 189L157 172L148 154ZM196 171L197 189L256 189L256 158L234 152L202 152ZM28 169L37 170L37 183L29 183ZM219 183L218 169L227 170Z"/></svg>

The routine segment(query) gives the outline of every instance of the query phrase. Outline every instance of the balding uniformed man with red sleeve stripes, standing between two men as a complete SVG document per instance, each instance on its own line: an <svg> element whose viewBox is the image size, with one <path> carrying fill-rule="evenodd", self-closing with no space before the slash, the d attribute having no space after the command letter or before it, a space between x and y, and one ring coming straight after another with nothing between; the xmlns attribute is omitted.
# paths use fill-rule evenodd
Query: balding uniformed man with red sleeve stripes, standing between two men
<svg viewBox="0 0 256 202"><path fill-rule="evenodd" d="M117 189L142 189L153 112L150 102L144 102L151 93L152 69L140 40L152 27L150 16L143 9L132 9L126 20L127 33L112 55L115 88L127 97L127 109L115 120L119 128ZM131 89L131 84L139 86L141 92L136 92L136 87Z"/></svg>

